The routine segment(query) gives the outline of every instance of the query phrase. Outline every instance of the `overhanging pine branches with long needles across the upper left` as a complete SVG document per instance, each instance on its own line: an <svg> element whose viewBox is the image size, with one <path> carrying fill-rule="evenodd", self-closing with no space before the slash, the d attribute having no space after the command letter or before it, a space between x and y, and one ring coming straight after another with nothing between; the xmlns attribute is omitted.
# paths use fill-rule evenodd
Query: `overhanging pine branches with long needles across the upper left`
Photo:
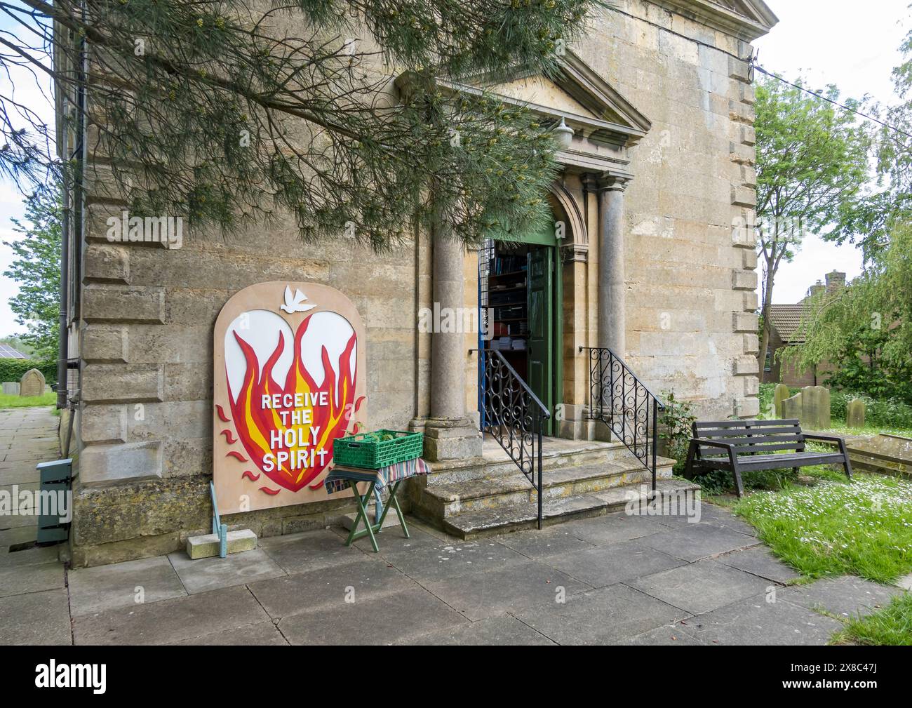
<svg viewBox="0 0 912 708"><path fill-rule="evenodd" d="M553 72L602 4L21 3L0 0L21 30L0 37L0 67L54 78L63 127L88 121L90 158L131 213L223 228L291 214L306 240L349 233L375 248L416 214L467 242L546 218L553 126L460 82ZM40 177L47 126L12 96L0 109L0 171Z"/></svg>

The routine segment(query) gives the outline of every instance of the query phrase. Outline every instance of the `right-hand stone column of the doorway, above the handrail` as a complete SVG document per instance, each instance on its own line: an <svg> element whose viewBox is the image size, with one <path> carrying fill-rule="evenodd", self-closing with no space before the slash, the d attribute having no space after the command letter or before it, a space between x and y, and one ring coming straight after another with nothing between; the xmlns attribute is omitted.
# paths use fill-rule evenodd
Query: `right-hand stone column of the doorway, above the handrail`
<svg viewBox="0 0 912 708"><path fill-rule="evenodd" d="M624 189L629 178L606 176L598 193L598 346L627 356L624 283Z"/></svg>

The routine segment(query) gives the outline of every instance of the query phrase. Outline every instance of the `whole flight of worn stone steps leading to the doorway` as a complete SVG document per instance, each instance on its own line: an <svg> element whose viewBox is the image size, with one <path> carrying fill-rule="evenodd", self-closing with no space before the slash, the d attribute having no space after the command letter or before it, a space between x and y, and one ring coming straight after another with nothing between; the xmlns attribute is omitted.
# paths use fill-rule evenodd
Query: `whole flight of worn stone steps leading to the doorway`
<svg viewBox="0 0 912 708"><path fill-rule="evenodd" d="M645 496L652 475L621 442L545 438L542 445L544 525L621 510ZM658 487L696 488L671 480L674 461L658 458ZM411 513L460 538L537 526L536 490L497 442L482 458L431 464L409 488Z"/></svg>

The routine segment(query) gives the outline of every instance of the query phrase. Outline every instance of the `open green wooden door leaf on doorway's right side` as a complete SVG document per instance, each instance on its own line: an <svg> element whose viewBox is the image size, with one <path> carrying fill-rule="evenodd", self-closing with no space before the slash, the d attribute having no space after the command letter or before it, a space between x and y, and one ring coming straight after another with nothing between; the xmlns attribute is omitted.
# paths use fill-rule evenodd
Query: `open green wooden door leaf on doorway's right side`
<svg viewBox="0 0 912 708"><path fill-rule="evenodd" d="M554 248L535 248L527 256L529 303L529 388L554 411ZM544 424L551 435L554 416Z"/></svg>

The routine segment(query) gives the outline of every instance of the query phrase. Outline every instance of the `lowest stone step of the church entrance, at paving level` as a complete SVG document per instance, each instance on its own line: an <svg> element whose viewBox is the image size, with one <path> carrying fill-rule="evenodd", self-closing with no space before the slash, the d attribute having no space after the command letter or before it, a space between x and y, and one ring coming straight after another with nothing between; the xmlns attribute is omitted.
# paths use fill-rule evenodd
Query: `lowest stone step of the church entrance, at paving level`
<svg viewBox="0 0 912 708"><path fill-rule="evenodd" d="M699 484L676 479L660 480L656 486L658 491L666 495L700 489ZM638 505L645 502L647 493L648 489L644 490L640 484L627 484L591 494L545 498L542 508L543 526L622 511L631 503ZM522 531L537 525L538 506L534 502L479 509L442 520L444 531L466 540Z"/></svg>

